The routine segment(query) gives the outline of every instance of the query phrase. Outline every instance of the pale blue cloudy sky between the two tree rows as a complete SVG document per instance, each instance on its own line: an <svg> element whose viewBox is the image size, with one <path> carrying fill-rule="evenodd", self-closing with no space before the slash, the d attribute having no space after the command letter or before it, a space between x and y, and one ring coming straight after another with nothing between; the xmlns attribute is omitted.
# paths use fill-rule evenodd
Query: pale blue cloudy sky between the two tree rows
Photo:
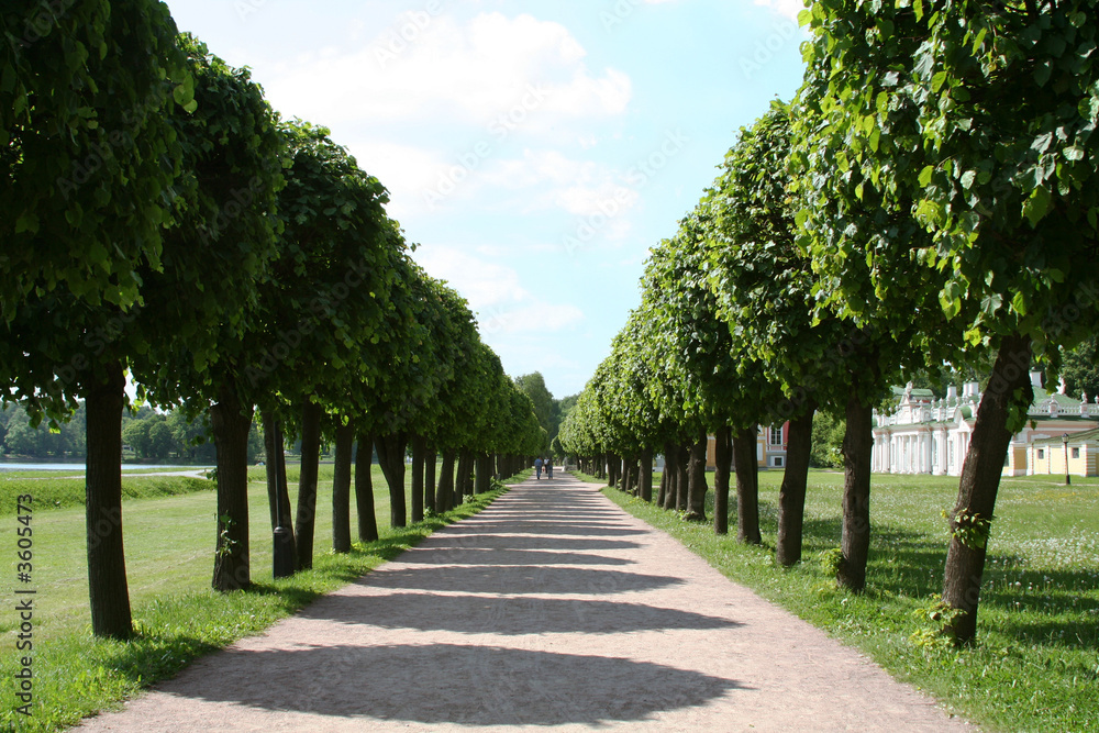
<svg viewBox="0 0 1099 733"><path fill-rule="evenodd" d="M800 0L167 0L390 192L511 376L582 390L650 248L789 100Z"/></svg>

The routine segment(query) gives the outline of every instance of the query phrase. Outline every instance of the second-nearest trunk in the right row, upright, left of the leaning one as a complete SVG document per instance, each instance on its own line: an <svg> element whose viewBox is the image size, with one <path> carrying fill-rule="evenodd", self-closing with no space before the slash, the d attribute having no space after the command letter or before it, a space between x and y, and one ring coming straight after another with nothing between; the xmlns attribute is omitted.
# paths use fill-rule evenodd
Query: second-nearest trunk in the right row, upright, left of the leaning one
<svg viewBox="0 0 1099 733"><path fill-rule="evenodd" d="M847 431L843 435L843 558L836 580L844 588L866 588L866 558L870 549L870 458L874 448L872 408L858 399L853 385L847 396ZM1003 456L1000 456L1002 462ZM1001 464L1002 467L1002 464Z"/></svg>

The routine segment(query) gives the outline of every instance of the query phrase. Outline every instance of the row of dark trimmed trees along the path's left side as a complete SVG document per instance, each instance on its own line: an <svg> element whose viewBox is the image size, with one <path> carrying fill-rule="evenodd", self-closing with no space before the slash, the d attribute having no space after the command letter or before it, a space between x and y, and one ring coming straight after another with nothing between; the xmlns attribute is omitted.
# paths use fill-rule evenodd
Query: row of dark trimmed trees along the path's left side
<svg viewBox="0 0 1099 733"><path fill-rule="evenodd" d="M280 120L247 70L180 35L162 2L77 3L32 24L40 4L16 0L0 15L0 373L4 400L35 422L86 404L97 635L133 631L120 473L127 373L152 404L211 411L222 590L251 581L257 408L271 525L292 529L297 568L312 563L322 435L337 444L337 549L349 546L355 437L367 525L371 446L395 525L406 522L409 443L418 467L443 455L430 501L422 473L413 477L413 521L459 500L445 490L455 455L487 476L491 455L536 453L545 436L530 400L465 301L411 260L384 186L325 129ZM302 440L293 518L284 431ZM360 526L359 537L376 532Z"/></svg>

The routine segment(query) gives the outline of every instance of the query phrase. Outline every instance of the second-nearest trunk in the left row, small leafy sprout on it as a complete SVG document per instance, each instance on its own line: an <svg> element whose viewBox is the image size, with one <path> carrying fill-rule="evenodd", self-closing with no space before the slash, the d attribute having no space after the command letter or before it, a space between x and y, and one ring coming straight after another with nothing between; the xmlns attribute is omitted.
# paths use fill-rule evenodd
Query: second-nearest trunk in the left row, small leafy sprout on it
<svg viewBox="0 0 1099 733"><path fill-rule="evenodd" d="M218 534L214 548L214 590L243 590L252 585L248 538L248 432L253 407L241 404L222 386L210 409L218 449Z"/></svg>

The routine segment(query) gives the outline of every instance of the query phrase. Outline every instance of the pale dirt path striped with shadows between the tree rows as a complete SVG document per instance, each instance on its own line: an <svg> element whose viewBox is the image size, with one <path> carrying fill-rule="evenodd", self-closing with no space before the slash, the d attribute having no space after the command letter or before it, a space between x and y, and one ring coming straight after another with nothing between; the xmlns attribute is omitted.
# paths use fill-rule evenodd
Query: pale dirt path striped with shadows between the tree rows
<svg viewBox="0 0 1099 733"><path fill-rule="evenodd" d="M972 730L562 474L81 730L528 726Z"/></svg>

